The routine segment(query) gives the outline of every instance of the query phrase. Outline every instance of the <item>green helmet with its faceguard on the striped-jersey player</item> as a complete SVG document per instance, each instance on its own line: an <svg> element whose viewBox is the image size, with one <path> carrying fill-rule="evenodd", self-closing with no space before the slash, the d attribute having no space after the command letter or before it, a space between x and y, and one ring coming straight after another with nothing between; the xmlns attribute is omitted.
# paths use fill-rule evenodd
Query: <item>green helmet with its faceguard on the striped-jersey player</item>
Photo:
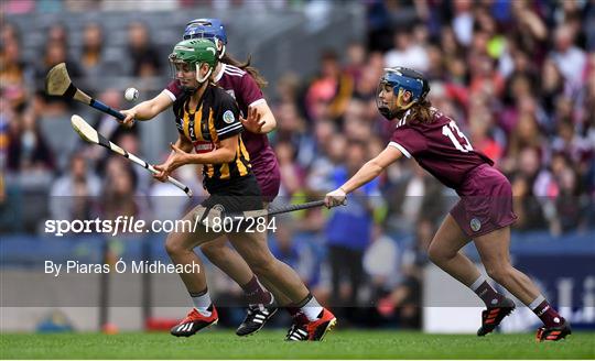
<svg viewBox="0 0 595 361"><path fill-rule="evenodd" d="M174 46L172 54L170 54L170 65L174 72L174 78L177 78L180 72L194 72L199 86L208 81L217 63L217 47L206 39L182 41ZM201 66L203 64L208 65L209 69L205 76L201 77ZM188 91L196 90L194 87L183 87Z"/></svg>

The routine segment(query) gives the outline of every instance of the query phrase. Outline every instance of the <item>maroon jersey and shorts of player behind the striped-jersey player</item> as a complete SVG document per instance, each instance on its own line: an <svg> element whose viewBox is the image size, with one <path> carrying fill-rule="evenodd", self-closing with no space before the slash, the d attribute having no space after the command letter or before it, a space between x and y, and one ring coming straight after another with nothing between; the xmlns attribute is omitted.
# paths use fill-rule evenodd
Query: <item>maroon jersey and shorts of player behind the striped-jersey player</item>
<svg viewBox="0 0 595 361"><path fill-rule="evenodd" d="M221 64L221 67L215 83L236 99L242 117L248 114L249 106L266 101L258 84L248 73L229 64ZM167 85L165 91L175 101L184 90L180 86L180 81L174 80ZM241 139L250 154L252 172L258 179L262 195L267 201L272 201L279 193L280 173L277 156L269 145L269 139L267 134L255 134L249 131L242 132Z"/></svg>

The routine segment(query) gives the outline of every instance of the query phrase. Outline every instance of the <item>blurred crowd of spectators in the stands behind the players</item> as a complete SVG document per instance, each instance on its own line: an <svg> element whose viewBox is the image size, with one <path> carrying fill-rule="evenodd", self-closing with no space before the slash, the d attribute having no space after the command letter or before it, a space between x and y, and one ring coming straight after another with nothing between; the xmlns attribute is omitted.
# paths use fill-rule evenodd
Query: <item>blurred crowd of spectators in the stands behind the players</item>
<svg viewBox="0 0 595 361"><path fill-rule="evenodd" d="M209 2L154 3L172 10ZM249 3L213 1L212 6ZM432 103L455 119L474 147L510 179L519 216L516 231L561 234L593 228L595 1L366 0L361 4L365 39L320 54L317 74L288 69L281 78L269 79L274 81L274 94L264 89L278 122L269 139L281 165L279 203L324 195L386 146L394 124L377 111L378 79L383 67L407 66L426 75ZM46 72L61 62L82 81L106 74L165 77L167 59L152 45L142 22L130 23L123 57L102 46L100 23L80 30L76 61L68 55L72 44L63 24L47 29L39 56L21 56L20 39L26 29L10 21L10 11L58 7L76 15L79 8L99 11L110 6L113 2L67 0L3 4L9 12L0 34L2 233L39 231L39 225L26 219L95 215L175 219L190 206L183 196L140 197L177 193L122 157L78 140L64 142L60 134L72 130L60 123L67 123L74 105L42 91ZM290 7L290 1L262 7ZM229 42L232 54L234 40ZM121 90L94 89L113 108L127 107ZM93 116L101 133L142 156L138 131L142 124L125 130L108 116ZM167 152L164 147L163 155ZM201 194L194 169L181 169L178 176ZM273 250L311 285L320 284L321 294L326 289L340 298L332 300L335 305L382 299L380 314L391 315L392 307L400 306L403 325L414 326L419 314L408 305L419 304L423 250L455 201L456 195L415 162L403 161L354 195L345 209L280 218ZM411 241L403 247L388 234ZM310 241L295 241L296 237ZM313 265L316 258L326 260L326 273L314 271L321 269ZM371 287L369 294L358 295L364 276Z"/></svg>

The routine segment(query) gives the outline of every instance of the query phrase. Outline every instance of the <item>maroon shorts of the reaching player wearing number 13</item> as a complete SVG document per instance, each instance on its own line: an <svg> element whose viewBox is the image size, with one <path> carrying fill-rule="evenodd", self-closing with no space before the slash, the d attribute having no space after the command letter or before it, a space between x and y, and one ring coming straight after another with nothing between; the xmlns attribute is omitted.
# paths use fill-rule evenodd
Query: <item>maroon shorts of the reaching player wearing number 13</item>
<svg viewBox="0 0 595 361"><path fill-rule="evenodd" d="M469 238L510 226L517 220L512 211L510 182L489 164L473 168L456 193L461 200L451 209L451 216Z"/></svg>

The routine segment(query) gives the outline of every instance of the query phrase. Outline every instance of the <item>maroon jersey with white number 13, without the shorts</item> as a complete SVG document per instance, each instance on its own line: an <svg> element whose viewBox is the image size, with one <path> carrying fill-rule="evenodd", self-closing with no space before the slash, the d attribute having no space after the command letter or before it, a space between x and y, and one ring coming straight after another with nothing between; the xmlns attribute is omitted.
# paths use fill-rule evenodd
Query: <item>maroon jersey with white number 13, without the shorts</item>
<svg viewBox="0 0 595 361"><path fill-rule="evenodd" d="M397 123L389 145L418 163L445 186L458 190L465 175L482 164L494 162L475 151L455 121L435 110L434 121L409 119L409 111Z"/></svg>

